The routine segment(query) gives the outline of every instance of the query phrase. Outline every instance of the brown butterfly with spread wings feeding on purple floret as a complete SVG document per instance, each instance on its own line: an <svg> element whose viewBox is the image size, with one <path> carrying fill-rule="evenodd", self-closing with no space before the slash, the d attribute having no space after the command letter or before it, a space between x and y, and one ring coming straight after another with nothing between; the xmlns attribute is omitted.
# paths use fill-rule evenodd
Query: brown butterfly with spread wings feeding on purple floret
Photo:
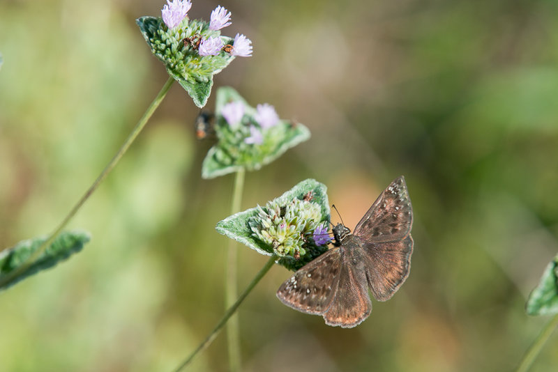
<svg viewBox="0 0 558 372"><path fill-rule="evenodd" d="M351 328L368 318L372 303L393 296L411 268L413 210L405 178L380 194L351 233L332 228L335 248L306 264L277 291L283 304L321 315L327 325Z"/></svg>

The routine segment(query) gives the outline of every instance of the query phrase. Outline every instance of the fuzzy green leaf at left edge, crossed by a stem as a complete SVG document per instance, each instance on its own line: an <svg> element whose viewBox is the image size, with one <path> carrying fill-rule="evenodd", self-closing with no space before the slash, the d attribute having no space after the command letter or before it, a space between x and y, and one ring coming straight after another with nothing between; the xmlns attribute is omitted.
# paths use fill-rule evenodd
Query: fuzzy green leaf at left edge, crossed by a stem
<svg viewBox="0 0 558 372"><path fill-rule="evenodd" d="M89 233L84 231L63 231L36 260L17 276L8 279L8 276L18 270L27 259L40 247L45 238L34 238L18 242L15 247L0 252L0 290L13 286L40 270L52 268L72 254L81 251L84 244L90 240ZM6 279L8 279L6 281ZM5 282L6 281L6 282Z"/></svg>

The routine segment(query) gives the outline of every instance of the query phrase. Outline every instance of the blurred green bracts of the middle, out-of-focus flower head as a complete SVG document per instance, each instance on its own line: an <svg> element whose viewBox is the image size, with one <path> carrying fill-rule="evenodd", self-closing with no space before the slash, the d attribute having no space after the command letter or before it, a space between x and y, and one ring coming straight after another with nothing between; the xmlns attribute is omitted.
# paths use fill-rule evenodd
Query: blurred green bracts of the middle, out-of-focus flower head
<svg viewBox="0 0 558 372"><path fill-rule="evenodd" d="M229 102L242 102L244 116L241 125L231 127L223 117L222 110ZM216 98L215 130L218 142L209 149L202 164L202 178L214 178L240 169L260 169L276 160L289 148L310 138L310 131L300 123L281 120L273 127L262 130L262 144L246 144L250 125L259 128L255 121L256 110L233 88L219 88Z"/></svg>

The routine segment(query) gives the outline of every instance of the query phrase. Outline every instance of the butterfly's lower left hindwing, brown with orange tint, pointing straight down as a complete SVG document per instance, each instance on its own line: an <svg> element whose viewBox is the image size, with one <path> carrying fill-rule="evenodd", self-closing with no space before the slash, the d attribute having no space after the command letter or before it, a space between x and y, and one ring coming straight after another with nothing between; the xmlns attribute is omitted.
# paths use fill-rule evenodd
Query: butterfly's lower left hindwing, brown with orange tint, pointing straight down
<svg viewBox="0 0 558 372"><path fill-rule="evenodd" d="M349 236L343 240L341 251L341 271L338 288L331 306L324 313L327 325L352 328L368 318L372 303L368 295L365 260L359 249L359 238Z"/></svg>

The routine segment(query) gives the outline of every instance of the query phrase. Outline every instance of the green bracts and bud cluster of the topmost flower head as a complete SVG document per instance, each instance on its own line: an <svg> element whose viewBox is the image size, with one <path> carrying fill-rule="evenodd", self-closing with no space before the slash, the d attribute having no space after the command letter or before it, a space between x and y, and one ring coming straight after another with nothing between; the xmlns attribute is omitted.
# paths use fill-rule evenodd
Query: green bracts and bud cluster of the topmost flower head
<svg viewBox="0 0 558 372"><path fill-rule="evenodd" d="M209 22L189 21L188 17L174 29L168 29L158 17L141 17L136 23L151 52L165 63L169 75L186 89L197 107L204 107L213 86L213 75L227 67L234 56L223 51L216 56L200 56L191 44L219 37L224 45L232 45L234 39L210 30ZM191 40L191 43L185 40Z"/></svg>

